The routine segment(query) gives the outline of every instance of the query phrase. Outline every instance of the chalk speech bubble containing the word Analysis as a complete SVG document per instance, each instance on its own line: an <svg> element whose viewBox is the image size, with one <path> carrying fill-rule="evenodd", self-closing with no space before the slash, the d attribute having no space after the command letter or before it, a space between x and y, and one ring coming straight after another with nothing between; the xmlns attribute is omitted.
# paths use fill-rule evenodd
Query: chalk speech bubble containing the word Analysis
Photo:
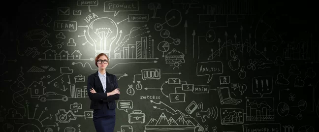
<svg viewBox="0 0 319 132"><path fill-rule="evenodd" d="M209 83L214 74L223 74L223 63L220 61L197 63L196 74L197 76L208 75L207 83Z"/></svg>

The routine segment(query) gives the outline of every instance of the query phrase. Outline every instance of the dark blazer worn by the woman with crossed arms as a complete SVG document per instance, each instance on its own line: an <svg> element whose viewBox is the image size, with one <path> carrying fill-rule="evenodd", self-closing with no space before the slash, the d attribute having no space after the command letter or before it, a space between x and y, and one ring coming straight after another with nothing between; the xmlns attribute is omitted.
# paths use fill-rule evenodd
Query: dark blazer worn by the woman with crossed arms
<svg viewBox="0 0 319 132"><path fill-rule="evenodd" d="M96 93L92 94L90 89L94 88ZM117 78L115 75L106 72L106 93L112 92L114 89L119 88ZM107 97L104 93L102 83L98 77L98 71L89 75L88 77L88 87L87 87L89 98L91 99L90 109L101 109L103 103L107 103L109 109L115 109L115 100L120 99L119 94Z"/></svg>

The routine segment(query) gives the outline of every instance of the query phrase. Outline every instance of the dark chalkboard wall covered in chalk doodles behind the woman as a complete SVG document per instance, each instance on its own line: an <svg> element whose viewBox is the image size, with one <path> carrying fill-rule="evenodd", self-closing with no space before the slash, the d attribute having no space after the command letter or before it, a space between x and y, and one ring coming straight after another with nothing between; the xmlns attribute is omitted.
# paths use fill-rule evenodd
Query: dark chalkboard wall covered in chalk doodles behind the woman
<svg viewBox="0 0 319 132"><path fill-rule="evenodd" d="M131 59L130 54L130 59L123 59L127 54L114 53L115 42L109 49L107 71L117 75L121 91L116 102L132 106L125 111L118 105L116 132L160 132L173 128L190 130L171 132L318 131L315 3L139 0L138 10L120 11L114 16L114 12L103 12L104 2L110 1L99 0L98 5L90 6L91 12L88 6L78 6L77 2L1 2L2 132L95 132L90 99L84 89L87 76L97 70L90 60L96 57L96 49L83 31L102 17L119 22L115 42L120 39L118 44L123 47L136 44L136 51L143 40L147 48L154 42L154 52L152 48L147 51L146 59ZM69 9L69 15L61 15L67 13L63 9ZM74 10L81 10L81 14L73 15ZM93 13L97 17L87 23L84 19ZM148 14L149 18L143 22L125 20L133 14ZM58 20L76 21L76 31L54 30ZM156 28L157 23L162 29ZM59 33L65 38L57 37ZM69 40L75 44L68 43ZM125 51L123 47L119 48ZM78 50L82 55L81 59L71 56L50 60L45 58L49 49L57 54L67 51L69 55ZM182 57L182 61L178 63L176 56L170 58L169 52ZM122 59L115 58L115 54ZM136 52L131 54L136 56ZM200 72L200 66L213 71ZM143 69L159 74L150 77ZM222 104L218 93L221 88L228 88L230 97L241 100L240 103ZM57 95L46 96L47 92Z"/></svg>

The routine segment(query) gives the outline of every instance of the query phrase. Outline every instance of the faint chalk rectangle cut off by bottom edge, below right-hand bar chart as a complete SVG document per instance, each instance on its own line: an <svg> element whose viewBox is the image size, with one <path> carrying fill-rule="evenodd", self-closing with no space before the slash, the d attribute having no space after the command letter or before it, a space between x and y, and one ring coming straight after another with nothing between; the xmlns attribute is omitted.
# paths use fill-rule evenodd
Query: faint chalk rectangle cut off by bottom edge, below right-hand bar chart
<svg viewBox="0 0 319 132"><path fill-rule="evenodd" d="M281 132L281 125L279 123L245 124L243 132Z"/></svg>

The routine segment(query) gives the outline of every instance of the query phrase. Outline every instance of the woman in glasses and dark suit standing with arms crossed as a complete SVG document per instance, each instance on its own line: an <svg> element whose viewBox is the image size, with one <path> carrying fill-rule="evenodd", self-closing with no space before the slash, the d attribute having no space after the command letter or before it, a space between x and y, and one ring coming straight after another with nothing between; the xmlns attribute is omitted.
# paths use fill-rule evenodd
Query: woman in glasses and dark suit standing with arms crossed
<svg viewBox="0 0 319 132"><path fill-rule="evenodd" d="M93 109L96 132L113 132L115 127L115 100L120 98L120 89L115 75L106 72L109 58L101 53L96 56L98 71L88 77L88 95Z"/></svg>

